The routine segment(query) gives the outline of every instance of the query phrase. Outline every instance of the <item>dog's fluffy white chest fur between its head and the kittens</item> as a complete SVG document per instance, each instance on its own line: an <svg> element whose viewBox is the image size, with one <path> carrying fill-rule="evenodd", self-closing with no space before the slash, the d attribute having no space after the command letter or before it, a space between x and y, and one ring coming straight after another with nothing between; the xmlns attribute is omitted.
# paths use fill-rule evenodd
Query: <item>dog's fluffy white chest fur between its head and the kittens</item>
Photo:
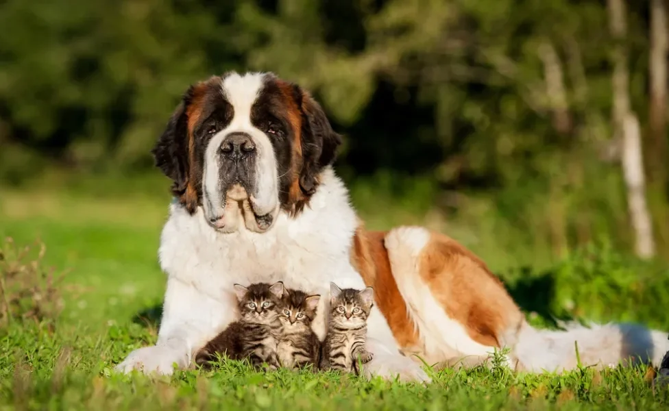
<svg viewBox="0 0 669 411"><path fill-rule="evenodd" d="M295 219L279 214L273 227L263 234L250 232L243 225L238 232L218 233L206 223L201 208L191 216L173 203L162 232L160 265L169 282L183 284L210 301L208 309L198 316L210 325L212 333L221 331L223 319L236 310L233 284L282 281L288 288L326 297L319 303L314 325L323 338L321 314L328 303L329 283L365 286L350 264L355 228L356 215L343 184L332 171L326 171L310 205Z"/></svg>

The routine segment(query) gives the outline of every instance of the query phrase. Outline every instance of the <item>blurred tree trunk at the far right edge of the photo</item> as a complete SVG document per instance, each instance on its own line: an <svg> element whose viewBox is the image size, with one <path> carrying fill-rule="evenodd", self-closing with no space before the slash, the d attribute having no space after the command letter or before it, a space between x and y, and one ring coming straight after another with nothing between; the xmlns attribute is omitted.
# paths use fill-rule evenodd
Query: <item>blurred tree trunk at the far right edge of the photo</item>
<svg viewBox="0 0 669 411"><path fill-rule="evenodd" d="M664 160L667 150L667 51L669 38L667 31L666 0L650 0L650 108L648 125L650 144L648 153L648 179L660 185L666 179Z"/></svg>

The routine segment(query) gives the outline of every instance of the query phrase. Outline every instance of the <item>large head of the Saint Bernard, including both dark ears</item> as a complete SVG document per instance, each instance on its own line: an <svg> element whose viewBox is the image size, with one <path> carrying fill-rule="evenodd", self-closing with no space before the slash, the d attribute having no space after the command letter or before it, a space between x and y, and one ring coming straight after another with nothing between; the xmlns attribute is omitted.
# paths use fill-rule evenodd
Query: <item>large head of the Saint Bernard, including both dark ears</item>
<svg viewBox="0 0 669 411"><path fill-rule="evenodd" d="M152 153L172 191L208 223L265 232L295 215L341 143L320 105L271 73L228 73L188 88Z"/></svg>

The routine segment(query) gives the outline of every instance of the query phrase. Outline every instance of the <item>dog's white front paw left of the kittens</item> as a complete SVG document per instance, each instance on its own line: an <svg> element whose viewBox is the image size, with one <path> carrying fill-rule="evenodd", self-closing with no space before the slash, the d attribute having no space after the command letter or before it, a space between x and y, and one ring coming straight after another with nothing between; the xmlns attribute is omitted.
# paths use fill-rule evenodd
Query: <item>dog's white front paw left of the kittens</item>
<svg viewBox="0 0 669 411"><path fill-rule="evenodd" d="M154 345L153 347L143 347L132 351L114 369L121 373L138 370L145 374L171 375L173 364L176 364L178 368L185 368L188 365L188 355L169 347Z"/></svg>

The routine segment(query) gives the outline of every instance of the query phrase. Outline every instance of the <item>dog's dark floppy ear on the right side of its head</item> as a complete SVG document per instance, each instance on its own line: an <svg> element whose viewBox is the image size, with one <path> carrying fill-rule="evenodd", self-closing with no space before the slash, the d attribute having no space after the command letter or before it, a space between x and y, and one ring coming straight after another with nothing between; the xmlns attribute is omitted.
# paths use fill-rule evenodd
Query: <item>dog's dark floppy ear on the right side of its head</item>
<svg viewBox="0 0 669 411"><path fill-rule="evenodd" d="M321 105L302 90L293 86L295 99L302 113L302 170L300 188L312 195L318 186L318 174L323 167L335 162L341 135L337 134Z"/></svg>

